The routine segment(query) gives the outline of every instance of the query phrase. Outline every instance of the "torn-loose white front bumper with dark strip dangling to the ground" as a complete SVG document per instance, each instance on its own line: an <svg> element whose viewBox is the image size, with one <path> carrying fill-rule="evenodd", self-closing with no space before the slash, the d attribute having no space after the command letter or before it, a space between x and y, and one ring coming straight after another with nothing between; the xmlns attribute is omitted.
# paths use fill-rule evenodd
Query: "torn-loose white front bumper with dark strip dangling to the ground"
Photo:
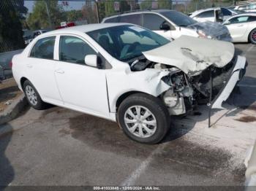
<svg viewBox="0 0 256 191"><path fill-rule="evenodd" d="M233 71L230 74L229 79L225 83L224 87L222 87L222 90L219 91L218 95L214 98L213 101L211 101L211 95L210 95L210 103L209 106L209 121L208 126L211 126L211 109L223 109L222 103L223 101L227 101L227 98L232 93L234 87L236 87L237 83L241 80L242 77L244 77L246 70L246 58L243 56L238 56L236 59L236 63L233 66ZM212 79L211 79L212 80ZM212 85L212 82L211 82ZM212 90L212 87L211 87Z"/></svg>

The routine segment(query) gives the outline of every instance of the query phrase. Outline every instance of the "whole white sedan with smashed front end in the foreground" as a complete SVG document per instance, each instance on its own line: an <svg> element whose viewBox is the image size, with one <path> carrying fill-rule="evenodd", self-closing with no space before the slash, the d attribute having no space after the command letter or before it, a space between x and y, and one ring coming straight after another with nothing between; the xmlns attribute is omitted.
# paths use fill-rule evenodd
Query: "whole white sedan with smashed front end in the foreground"
<svg viewBox="0 0 256 191"><path fill-rule="evenodd" d="M230 42L170 42L117 23L50 31L12 59L35 109L50 103L117 121L130 139L148 144L163 139L170 115L202 103L222 108L245 67Z"/></svg>

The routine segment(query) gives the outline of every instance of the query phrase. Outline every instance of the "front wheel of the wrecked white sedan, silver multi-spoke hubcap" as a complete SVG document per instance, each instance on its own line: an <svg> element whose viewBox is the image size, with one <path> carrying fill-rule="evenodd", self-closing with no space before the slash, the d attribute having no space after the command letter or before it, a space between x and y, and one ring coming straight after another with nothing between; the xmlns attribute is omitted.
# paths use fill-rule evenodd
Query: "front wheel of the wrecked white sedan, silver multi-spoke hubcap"
<svg viewBox="0 0 256 191"><path fill-rule="evenodd" d="M158 98L143 93L130 95L118 108L118 123L132 140L157 144L170 128L170 115Z"/></svg>

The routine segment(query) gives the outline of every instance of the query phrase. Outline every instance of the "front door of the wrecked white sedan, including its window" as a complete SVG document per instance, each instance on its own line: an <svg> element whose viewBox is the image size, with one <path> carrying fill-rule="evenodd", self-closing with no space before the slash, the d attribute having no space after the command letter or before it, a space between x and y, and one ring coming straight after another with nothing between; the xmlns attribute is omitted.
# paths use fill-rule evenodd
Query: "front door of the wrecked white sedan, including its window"
<svg viewBox="0 0 256 191"><path fill-rule="evenodd" d="M78 36L60 36L56 82L65 106L104 117L109 114L105 70L86 66L86 55L97 52Z"/></svg>

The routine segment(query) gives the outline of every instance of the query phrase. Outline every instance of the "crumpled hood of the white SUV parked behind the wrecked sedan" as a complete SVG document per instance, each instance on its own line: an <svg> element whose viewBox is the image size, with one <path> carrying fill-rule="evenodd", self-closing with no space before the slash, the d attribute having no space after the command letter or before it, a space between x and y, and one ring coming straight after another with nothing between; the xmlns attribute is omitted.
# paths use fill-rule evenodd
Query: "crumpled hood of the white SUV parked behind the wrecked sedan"
<svg viewBox="0 0 256 191"><path fill-rule="evenodd" d="M187 27L197 31L203 31L206 36L211 36L213 39L232 42L232 37L230 36L230 32L228 31L227 26L224 26L220 23L206 21L203 23L198 22Z"/></svg>

